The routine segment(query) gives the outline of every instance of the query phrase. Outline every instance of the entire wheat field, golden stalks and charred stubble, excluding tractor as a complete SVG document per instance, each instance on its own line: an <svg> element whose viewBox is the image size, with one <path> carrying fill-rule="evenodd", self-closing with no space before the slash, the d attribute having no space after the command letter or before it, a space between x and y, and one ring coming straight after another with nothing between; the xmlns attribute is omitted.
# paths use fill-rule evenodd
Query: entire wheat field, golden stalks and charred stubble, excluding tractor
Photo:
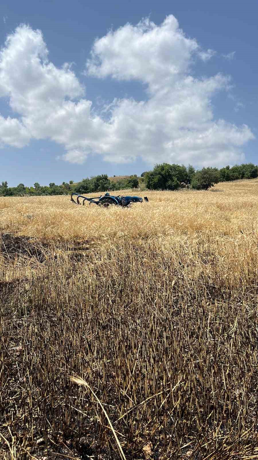
<svg viewBox="0 0 258 460"><path fill-rule="evenodd" d="M0 458L258 459L258 180L144 195L0 197Z"/></svg>

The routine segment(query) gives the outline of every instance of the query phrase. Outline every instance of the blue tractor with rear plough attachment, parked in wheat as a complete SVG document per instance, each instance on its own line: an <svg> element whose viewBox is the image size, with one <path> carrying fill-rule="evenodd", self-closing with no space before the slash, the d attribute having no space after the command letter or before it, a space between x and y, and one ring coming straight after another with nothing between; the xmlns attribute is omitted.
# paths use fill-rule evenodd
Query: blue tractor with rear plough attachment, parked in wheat
<svg viewBox="0 0 258 460"><path fill-rule="evenodd" d="M76 196L76 201L74 201L73 196ZM79 199L82 199L82 203ZM96 201L97 200L97 201ZM72 193L71 201L75 204L85 204L85 202L89 201L89 204L95 203L98 206L109 207L112 205L129 207L131 203L142 203L143 199L140 196L112 196L109 193L101 196L94 196L92 198L87 198L86 196L79 195L79 193ZM145 196L144 201L149 201L148 198Z"/></svg>

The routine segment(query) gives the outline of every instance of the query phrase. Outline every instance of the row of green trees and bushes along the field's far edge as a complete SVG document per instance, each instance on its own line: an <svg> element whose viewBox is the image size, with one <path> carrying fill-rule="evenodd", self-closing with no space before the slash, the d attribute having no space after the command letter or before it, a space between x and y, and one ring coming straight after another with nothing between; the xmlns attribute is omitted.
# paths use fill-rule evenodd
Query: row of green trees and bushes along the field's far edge
<svg viewBox="0 0 258 460"><path fill-rule="evenodd" d="M226 166L221 169L204 167L197 170L191 165L185 167L184 165L162 163L155 165L151 171L142 173L140 178L135 174L128 178L118 179L116 182L110 180L107 174L84 178L76 184L73 183L73 180L70 180L69 183L63 182L61 185L50 182L49 186L42 186L35 182L34 187L26 187L24 184L8 187L7 182L3 181L0 185L0 196L68 195L72 192L85 194L137 189L140 183L149 190L178 190L183 184L193 190L208 190L218 182L257 177L258 166L253 163Z"/></svg>

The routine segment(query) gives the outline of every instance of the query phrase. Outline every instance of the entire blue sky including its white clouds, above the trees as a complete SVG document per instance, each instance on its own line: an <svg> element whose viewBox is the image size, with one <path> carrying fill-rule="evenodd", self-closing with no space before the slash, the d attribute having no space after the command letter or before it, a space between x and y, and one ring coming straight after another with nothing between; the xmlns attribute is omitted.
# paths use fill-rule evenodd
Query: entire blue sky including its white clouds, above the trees
<svg viewBox="0 0 258 460"><path fill-rule="evenodd" d="M257 164L257 17L250 0L2 0L0 181Z"/></svg>

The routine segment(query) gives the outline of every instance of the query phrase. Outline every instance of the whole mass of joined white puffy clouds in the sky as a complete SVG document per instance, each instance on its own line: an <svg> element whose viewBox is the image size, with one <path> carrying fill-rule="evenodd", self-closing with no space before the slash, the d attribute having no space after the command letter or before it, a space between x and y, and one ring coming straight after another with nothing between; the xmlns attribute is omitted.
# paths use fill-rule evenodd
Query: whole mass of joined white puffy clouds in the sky
<svg viewBox="0 0 258 460"><path fill-rule="evenodd" d="M22 147L31 138L48 138L64 146L65 161L79 164L90 153L121 163L137 156L151 164L242 161L241 146L253 138L250 129L213 119L212 97L230 88L230 78L191 76L195 62L213 54L187 38L174 16L160 26L144 19L109 31L95 40L87 74L140 81L147 98L115 99L97 115L71 66L57 68L48 60L42 33L19 26L0 52L0 96L19 115L0 117L0 145Z"/></svg>

